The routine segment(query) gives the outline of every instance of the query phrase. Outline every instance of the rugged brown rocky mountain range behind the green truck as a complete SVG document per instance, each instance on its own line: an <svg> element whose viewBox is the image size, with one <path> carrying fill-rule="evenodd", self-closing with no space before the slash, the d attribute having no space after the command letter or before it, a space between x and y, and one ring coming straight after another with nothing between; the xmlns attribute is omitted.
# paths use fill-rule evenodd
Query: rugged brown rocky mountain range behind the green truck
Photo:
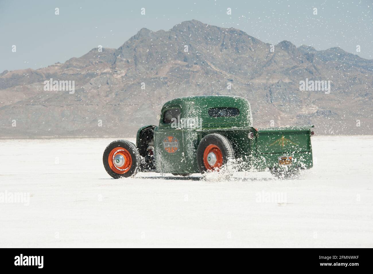
<svg viewBox="0 0 373 274"><path fill-rule="evenodd" d="M44 81L74 81L75 92ZM330 93L300 81L330 81ZM308 125L318 134L373 133L373 60L341 48L264 43L234 28L186 21L141 29L118 49L94 48L42 69L0 74L0 137L134 136L166 101L247 98L255 127ZM231 85L231 89L227 87Z"/></svg>

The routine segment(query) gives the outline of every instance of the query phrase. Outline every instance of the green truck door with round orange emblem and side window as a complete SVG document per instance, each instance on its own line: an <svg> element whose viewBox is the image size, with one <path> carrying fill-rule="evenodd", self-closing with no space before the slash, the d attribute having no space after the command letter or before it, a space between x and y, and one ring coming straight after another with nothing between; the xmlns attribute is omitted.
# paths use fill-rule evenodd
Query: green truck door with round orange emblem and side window
<svg viewBox="0 0 373 274"><path fill-rule="evenodd" d="M168 105L162 110L159 126L154 130L157 172L186 171L183 129L177 123L181 115L180 105Z"/></svg>

